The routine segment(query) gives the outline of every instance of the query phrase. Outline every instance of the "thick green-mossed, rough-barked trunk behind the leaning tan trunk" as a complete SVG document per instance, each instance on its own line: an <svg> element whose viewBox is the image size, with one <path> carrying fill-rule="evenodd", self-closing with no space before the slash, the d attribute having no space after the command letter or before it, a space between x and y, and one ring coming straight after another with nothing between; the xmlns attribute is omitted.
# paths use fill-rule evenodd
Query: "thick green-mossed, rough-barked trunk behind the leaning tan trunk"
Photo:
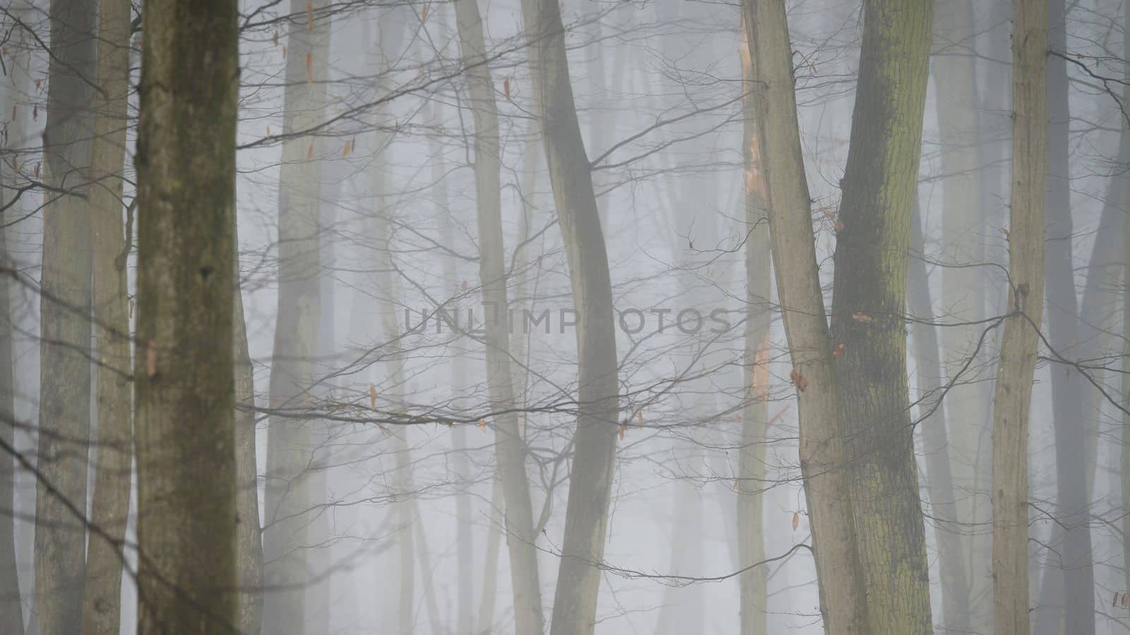
<svg viewBox="0 0 1130 635"><path fill-rule="evenodd" d="M864 5L841 181L832 341L869 632L931 633L925 531L906 388L906 261L918 197L933 2Z"/></svg>

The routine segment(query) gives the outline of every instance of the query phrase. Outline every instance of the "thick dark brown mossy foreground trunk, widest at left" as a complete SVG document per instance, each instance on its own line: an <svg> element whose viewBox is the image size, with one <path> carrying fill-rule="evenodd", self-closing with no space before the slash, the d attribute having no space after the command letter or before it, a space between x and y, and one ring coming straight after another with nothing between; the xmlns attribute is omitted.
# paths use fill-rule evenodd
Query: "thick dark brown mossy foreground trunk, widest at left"
<svg viewBox="0 0 1130 635"><path fill-rule="evenodd" d="M136 159L138 633L236 633L238 7L154 0L146 11Z"/></svg>

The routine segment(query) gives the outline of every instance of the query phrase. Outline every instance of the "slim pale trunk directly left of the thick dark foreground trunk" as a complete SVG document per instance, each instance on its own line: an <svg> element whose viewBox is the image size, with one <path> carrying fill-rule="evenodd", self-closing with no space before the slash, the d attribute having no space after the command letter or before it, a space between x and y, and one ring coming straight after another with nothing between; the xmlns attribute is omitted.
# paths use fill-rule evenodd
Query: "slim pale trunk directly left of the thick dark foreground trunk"
<svg viewBox="0 0 1130 635"><path fill-rule="evenodd" d="M122 540L130 506L132 402L130 319L125 260L130 236L122 227L127 102L130 73L129 0L104 0L98 9L98 86L90 148L90 223L94 235L95 349L98 362L97 471L86 555L84 635L118 635L122 603ZM130 212L132 215L132 210Z"/></svg>

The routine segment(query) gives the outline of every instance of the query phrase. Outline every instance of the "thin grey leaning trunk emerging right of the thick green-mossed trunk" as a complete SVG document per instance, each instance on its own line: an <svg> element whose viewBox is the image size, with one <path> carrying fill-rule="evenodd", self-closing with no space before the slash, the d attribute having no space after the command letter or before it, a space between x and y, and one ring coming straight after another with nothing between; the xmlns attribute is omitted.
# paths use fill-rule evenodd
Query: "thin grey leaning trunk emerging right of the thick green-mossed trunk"
<svg viewBox="0 0 1130 635"><path fill-rule="evenodd" d="M958 522L954 476L950 471L949 440L946 436L947 402L938 375L938 332L930 304L922 220L918 201L911 217L911 261L906 281L907 307L915 323L911 327L914 360L918 366L919 412L925 454L927 490L938 539L938 569L941 575L941 609L947 633L970 632L970 591L962 560L962 524ZM927 416L928 415L928 416Z"/></svg>

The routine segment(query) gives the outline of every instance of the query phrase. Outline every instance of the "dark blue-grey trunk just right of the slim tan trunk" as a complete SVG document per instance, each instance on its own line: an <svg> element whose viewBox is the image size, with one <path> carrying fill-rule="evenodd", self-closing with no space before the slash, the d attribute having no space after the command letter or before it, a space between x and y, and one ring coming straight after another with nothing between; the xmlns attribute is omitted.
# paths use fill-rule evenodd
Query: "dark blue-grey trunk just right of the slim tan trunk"
<svg viewBox="0 0 1130 635"><path fill-rule="evenodd" d="M1048 1L1048 45L1066 53L1067 24L1063 0ZM1049 342L1066 358L1074 358L1079 324L1075 290L1075 238L1071 215L1070 108L1068 105L1067 62L1059 56L1048 60L1048 191L1046 263ZM1089 510L1087 503L1086 436L1084 425L1083 375L1069 366L1053 364L1052 416L1055 432L1055 510L1061 529L1053 529L1053 545L1059 551L1044 567L1041 586L1040 619L1036 632L1052 635L1092 635L1094 617L1094 567L1090 553ZM1062 608L1060 608L1062 607ZM1050 609L1050 610L1049 610Z"/></svg>

